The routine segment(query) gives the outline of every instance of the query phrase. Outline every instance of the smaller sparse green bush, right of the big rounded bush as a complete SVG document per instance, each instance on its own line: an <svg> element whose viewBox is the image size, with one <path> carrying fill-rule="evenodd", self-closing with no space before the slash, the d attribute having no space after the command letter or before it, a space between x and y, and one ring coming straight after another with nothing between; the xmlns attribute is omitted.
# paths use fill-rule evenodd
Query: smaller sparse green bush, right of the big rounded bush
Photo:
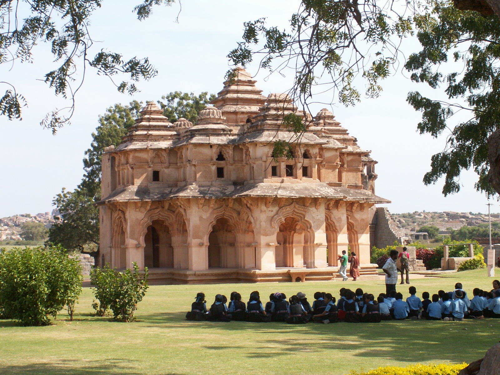
<svg viewBox="0 0 500 375"><path fill-rule="evenodd" d="M116 320L128 322L135 319L133 315L137 309L137 303L142 300L148 287L147 267L144 268L143 276L138 269L135 262L133 273L129 268L124 272L118 272L111 269L109 265L92 269L90 282L95 285L93 290L98 300L92 303L92 307L97 315L103 316L109 308Z"/></svg>

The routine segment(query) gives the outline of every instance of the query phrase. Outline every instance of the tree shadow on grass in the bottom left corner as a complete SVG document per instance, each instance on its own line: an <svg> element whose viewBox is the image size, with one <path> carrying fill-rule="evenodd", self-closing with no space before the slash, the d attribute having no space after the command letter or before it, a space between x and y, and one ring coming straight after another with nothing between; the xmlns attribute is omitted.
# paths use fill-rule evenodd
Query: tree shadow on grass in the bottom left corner
<svg viewBox="0 0 500 375"><path fill-rule="evenodd" d="M24 363L0 366L2 374L30 374L30 375L100 375L124 373L133 365L129 359L113 358L107 360L81 361L73 359L58 359L54 362ZM139 372L126 372L139 375Z"/></svg>

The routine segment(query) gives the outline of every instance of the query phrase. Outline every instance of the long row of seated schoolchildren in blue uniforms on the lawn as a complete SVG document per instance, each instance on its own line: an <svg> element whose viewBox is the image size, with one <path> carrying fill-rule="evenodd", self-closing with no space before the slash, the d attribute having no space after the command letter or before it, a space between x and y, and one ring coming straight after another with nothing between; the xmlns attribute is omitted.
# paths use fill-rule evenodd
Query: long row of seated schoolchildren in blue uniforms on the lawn
<svg viewBox="0 0 500 375"><path fill-rule="evenodd" d="M227 305L225 295L215 295L209 309L206 308L205 295L196 294L196 300L187 312L187 320L210 321L283 321L290 324L303 324L308 321L319 323L345 322L380 322L381 320L428 319L428 320L463 320L463 318L500 318L500 289L491 292L479 288L473 290L474 297L469 300L462 284L457 282L452 291L439 290L437 294L424 291L418 298L416 288L410 286L409 297L403 300L401 293L392 290L389 295L363 293L361 288L355 291L341 288L340 298L336 302L331 293L317 291L310 304L304 293L298 292L286 300L284 293L271 293L265 307L260 301L258 291L252 291L248 302L241 301L241 294L233 291ZM336 302L336 304L335 304Z"/></svg>

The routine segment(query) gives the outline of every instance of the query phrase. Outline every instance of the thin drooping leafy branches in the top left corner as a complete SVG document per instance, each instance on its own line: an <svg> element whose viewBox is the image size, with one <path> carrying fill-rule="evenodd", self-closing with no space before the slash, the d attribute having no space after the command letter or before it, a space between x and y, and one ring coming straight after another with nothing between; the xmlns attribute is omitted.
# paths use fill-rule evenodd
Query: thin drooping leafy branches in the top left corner
<svg viewBox="0 0 500 375"><path fill-rule="evenodd" d="M170 5L174 0L143 0L134 7L142 20L154 5ZM44 81L54 93L70 101L63 109L47 113L41 124L55 132L69 122L74 99L83 84L86 69L105 75L120 92L134 93L135 83L157 74L147 57L125 57L116 51L101 48L94 51L90 18L100 7L101 0L1 0L0 1L0 64L34 62L33 47L44 44L53 56L56 67L45 73ZM120 80L117 77L126 76ZM27 104L15 89L15 82L2 81L6 86L0 98L0 114L9 119L21 118Z"/></svg>

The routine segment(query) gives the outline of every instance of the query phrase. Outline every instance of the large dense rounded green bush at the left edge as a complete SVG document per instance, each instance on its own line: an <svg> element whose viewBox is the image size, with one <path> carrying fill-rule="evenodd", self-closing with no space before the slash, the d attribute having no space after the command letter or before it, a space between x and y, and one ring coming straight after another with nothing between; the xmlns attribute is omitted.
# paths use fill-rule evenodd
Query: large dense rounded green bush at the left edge
<svg viewBox="0 0 500 375"><path fill-rule="evenodd" d="M47 325L64 305L74 304L81 292L81 267L60 246L14 247L0 252L2 315L22 325Z"/></svg>

